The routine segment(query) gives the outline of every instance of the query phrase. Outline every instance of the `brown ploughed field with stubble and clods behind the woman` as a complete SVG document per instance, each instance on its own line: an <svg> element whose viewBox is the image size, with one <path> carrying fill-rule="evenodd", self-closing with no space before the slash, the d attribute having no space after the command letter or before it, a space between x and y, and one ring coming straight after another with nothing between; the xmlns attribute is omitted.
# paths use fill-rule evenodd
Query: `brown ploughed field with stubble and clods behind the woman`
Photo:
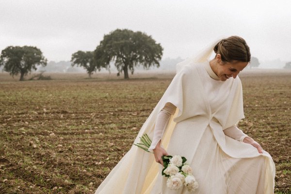
<svg viewBox="0 0 291 194"><path fill-rule="evenodd" d="M0 73L0 194L93 194L174 74L18 81ZM246 118L239 127L273 157L275 193L291 194L291 70L244 70L240 78Z"/></svg>

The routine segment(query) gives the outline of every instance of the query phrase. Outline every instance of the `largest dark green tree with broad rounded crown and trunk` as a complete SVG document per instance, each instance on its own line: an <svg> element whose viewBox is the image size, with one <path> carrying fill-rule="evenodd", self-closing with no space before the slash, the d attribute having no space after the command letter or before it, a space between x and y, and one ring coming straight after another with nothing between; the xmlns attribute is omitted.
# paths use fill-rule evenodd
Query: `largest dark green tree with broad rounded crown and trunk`
<svg viewBox="0 0 291 194"><path fill-rule="evenodd" d="M133 74L136 65L143 65L145 69L159 67L162 50L162 46L146 33L117 29L104 35L94 51L94 61L104 67L110 67L109 63L115 61L117 76L123 71L124 78L129 79L128 70Z"/></svg>

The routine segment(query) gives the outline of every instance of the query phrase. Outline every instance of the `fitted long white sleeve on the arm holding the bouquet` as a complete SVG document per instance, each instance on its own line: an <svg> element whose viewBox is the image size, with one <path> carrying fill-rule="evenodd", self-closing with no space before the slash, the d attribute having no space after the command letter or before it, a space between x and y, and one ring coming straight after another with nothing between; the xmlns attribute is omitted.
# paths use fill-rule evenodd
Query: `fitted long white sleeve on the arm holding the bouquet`
<svg viewBox="0 0 291 194"><path fill-rule="evenodd" d="M172 103L166 103L164 108L160 111L157 116L157 120L154 128L154 137L148 151L153 152L159 141L162 139L163 132L168 126L171 114L174 114L176 106Z"/></svg>

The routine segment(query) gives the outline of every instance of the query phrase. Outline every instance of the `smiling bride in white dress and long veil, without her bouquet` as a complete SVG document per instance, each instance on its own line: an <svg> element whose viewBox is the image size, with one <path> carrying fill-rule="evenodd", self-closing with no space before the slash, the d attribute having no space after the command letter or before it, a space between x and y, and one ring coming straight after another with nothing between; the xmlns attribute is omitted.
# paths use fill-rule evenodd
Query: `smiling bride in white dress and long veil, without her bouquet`
<svg viewBox="0 0 291 194"><path fill-rule="evenodd" d="M193 194L273 194L272 157L237 127L244 118L238 74L250 56L245 40L230 36L178 64L134 141L147 133L154 154L132 146L95 194L189 194L167 188L163 155L187 159L199 184Z"/></svg>

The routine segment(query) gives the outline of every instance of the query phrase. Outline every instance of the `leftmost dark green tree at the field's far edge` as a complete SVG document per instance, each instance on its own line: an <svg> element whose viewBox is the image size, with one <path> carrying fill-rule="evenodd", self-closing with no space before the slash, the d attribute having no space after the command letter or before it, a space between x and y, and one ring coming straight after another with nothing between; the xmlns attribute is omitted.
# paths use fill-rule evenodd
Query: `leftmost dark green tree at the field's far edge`
<svg viewBox="0 0 291 194"><path fill-rule="evenodd" d="M40 49L36 47L13 47L9 46L3 49L0 56L0 66L4 65L3 70L7 71L13 77L20 73L20 80L24 76L37 69L37 65L46 66L47 59L42 55Z"/></svg>

